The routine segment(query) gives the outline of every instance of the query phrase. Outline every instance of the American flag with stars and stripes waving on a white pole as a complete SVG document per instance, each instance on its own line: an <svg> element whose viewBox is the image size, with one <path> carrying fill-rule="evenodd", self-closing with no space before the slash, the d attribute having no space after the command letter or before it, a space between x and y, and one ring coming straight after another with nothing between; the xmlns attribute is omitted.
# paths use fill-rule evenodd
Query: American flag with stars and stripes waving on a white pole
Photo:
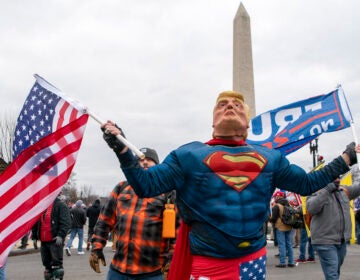
<svg viewBox="0 0 360 280"><path fill-rule="evenodd" d="M0 176L0 267L70 177L88 114L38 75L20 112L13 162Z"/></svg>

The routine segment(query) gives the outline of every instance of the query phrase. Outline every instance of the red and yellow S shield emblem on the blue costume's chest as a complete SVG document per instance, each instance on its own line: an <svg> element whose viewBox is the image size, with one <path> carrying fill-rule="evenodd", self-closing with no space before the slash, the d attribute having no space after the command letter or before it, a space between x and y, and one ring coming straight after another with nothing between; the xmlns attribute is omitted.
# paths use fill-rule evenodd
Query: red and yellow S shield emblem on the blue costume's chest
<svg viewBox="0 0 360 280"><path fill-rule="evenodd" d="M267 159L254 151L238 154L219 151L207 156L204 163L225 184L240 192L261 173Z"/></svg>

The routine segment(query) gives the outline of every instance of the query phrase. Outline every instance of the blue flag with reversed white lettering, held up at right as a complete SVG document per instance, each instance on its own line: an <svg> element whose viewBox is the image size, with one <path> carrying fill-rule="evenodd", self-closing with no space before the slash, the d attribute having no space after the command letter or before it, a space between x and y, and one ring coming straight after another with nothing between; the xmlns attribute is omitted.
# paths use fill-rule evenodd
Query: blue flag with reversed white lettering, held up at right
<svg viewBox="0 0 360 280"><path fill-rule="evenodd" d="M344 92L338 88L256 116L250 121L246 142L287 155L322 133L349 127L351 121Z"/></svg>

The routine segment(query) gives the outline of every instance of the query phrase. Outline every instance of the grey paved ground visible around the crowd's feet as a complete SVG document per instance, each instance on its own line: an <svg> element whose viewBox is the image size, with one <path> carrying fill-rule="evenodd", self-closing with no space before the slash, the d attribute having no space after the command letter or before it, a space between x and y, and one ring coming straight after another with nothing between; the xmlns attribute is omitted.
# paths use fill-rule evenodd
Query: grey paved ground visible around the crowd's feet
<svg viewBox="0 0 360 280"><path fill-rule="evenodd" d="M75 245L75 243L74 243ZM110 246L111 243L109 242ZM267 261L267 280L321 280L324 276L321 271L319 262L299 264L295 268L276 268L275 265L279 259L275 257L278 252L277 248L269 243L267 246L268 261ZM21 252L20 252L21 251ZM24 254L24 253L28 254ZM108 267L101 267L102 272L97 274L91 270L88 263L89 252L80 256L76 254L76 250L72 250L73 255L67 257L64 255L65 277L64 279L86 279L86 280L101 280L106 279ZM113 252L110 247L104 250L107 262L110 262ZM294 249L295 258L298 257L299 249ZM8 259L6 267L7 280L19 279L43 279L43 267L41 265L41 257L38 250L15 249L12 256ZM342 266L341 280L356 280L360 279L360 246L349 245L348 253L345 263Z"/></svg>

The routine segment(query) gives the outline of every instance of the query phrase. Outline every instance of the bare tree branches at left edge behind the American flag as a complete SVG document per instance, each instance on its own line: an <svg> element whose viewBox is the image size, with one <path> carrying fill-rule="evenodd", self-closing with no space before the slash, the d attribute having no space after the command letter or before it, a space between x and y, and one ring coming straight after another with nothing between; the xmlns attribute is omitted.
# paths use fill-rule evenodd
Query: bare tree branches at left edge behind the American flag
<svg viewBox="0 0 360 280"><path fill-rule="evenodd" d="M13 160L12 146L14 142L15 127L15 114L3 113L0 117L0 157L7 163Z"/></svg>

